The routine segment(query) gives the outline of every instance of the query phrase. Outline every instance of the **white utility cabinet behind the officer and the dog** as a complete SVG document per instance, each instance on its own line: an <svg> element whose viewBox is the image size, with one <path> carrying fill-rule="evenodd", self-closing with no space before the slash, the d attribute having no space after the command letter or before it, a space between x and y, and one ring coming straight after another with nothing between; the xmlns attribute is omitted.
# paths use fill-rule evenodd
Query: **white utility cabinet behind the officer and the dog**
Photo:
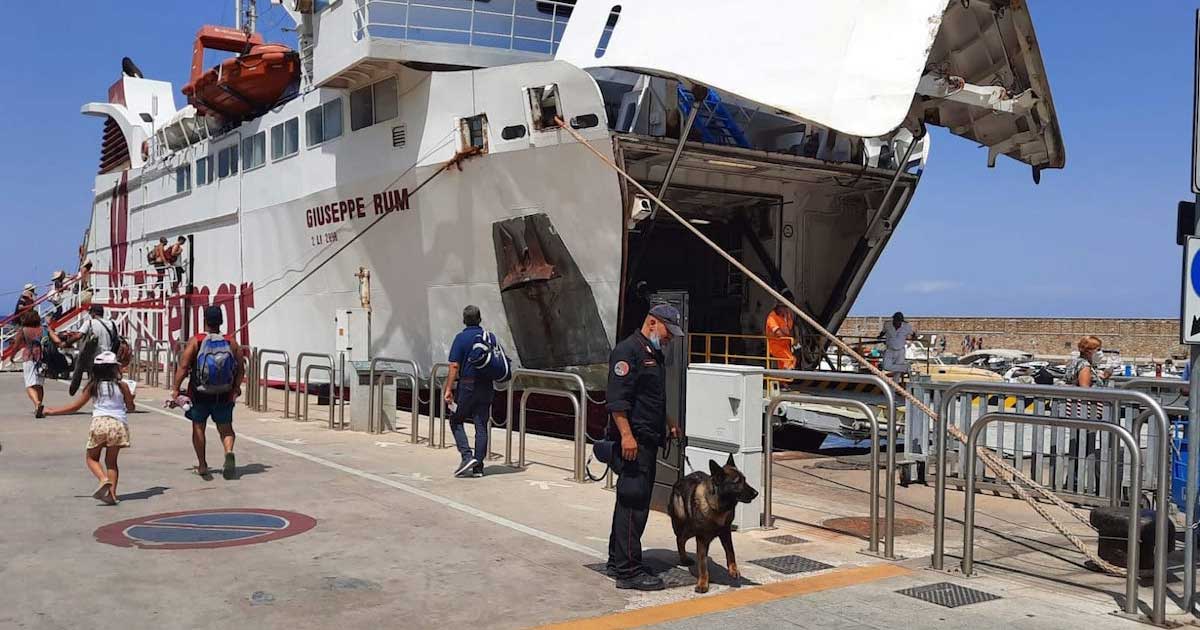
<svg viewBox="0 0 1200 630"><path fill-rule="evenodd" d="M730 455L746 482L758 491L751 503L739 503L733 524L762 527L762 367L691 364L688 366L688 462L708 473L708 462L725 466Z"/></svg>

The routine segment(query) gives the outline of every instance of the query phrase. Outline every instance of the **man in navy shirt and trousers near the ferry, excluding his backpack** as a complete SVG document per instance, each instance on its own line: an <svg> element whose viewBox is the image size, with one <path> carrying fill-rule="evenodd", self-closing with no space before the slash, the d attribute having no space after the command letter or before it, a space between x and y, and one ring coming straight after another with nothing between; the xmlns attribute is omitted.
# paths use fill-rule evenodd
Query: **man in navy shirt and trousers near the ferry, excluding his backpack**
<svg viewBox="0 0 1200 630"><path fill-rule="evenodd" d="M478 306L467 306L462 310L462 323L467 328L455 336L454 343L450 344L450 374L442 392L442 398L450 409L450 432L454 433L455 445L462 454L462 462L455 469L455 476L484 476L484 460L487 458L487 437L491 433L488 421L496 389L491 379L478 374L475 367L467 361L472 347L484 334L484 329L479 325L481 320ZM467 443L467 430L463 427L468 419L475 424L474 454Z"/></svg>

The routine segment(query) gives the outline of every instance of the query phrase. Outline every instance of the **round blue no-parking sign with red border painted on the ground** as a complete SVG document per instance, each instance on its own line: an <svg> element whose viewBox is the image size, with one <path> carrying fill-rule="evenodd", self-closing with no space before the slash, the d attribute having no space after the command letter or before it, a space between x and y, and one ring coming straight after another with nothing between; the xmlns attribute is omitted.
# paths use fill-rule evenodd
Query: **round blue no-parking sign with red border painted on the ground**
<svg viewBox="0 0 1200 630"><path fill-rule="evenodd" d="M143 550L204 550L256 545L302 534L317 521L281 510L228 508L168 512L96 529L98 542Z"/></svg>

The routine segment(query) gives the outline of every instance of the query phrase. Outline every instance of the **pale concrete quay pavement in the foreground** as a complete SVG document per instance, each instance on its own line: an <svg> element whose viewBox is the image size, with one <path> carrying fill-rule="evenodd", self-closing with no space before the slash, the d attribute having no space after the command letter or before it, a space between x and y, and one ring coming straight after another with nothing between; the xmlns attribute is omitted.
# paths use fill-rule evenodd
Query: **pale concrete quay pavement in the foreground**
<svg viewBox="0 0 1200 630"><path fill-rule="evenodd" d="M121 502L103 506L90 497L83 463L90 415L35 420L20 385L19 376L0 374L0 628L1136 628L1112 614L1123 580L1087 571L1012 499L979 497L978 577L928 569L925 486L898 491L896 517L908 527L896 552L907 559L860 553L863 538L829 521L866 515L866 472L823 455L776 456L776 529L734 534L745 584L728 586L714 544L709 594L694 593L683 569L667 574L680 586L641 594L617 590L588 568L604 562L613 494L604 484L566 480L569 442L530 436L524 470L499 460L482 479L454 479L452 450L412 444L407 434L330 431L323 421L283 419L278 406L239 406L240 474L204 480L191 472L190 424L161 408L162 390L140 388L133 446L120 461ZM67 398L62 384L47 390L52 403ZM503 432L493 439L503 452ZM218 451L210 428L210 463ZM961 545L961 498L952 491L947 506L948 566ZM247 545L214 545L211 536L250 532L253 542L256 528L272 526L152 523L191 510L312 521L299 530L305 518L289 516L282 529L295 527L294 535ZM137 526L106 527L132 520L181 538L156 548ZM770 540L784 535L802 541ZM653 560L673 562L665 515L652 514L644 546ZM782 556L828 568L784 574L755 564ZM943 582L998 599L949 608L899 593ZM1148 612L1148 586L1141 600Z"/></svg>

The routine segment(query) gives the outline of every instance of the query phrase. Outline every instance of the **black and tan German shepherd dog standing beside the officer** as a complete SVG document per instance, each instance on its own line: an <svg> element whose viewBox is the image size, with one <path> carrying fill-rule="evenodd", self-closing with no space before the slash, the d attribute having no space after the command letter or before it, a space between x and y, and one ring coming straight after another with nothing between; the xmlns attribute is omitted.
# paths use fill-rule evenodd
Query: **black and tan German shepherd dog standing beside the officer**
<svg viewBox="0 0 1200 630"><path fill-rule="evenodd" d="M709 460L708 468L708 474L697 470L676 481L667 505L679 548L679 564L691 564L684 544L690 538L696 539L696 562L700 564L696 593L708 593L708 545L714 538L721 539L730 577L733 578L733 586L738 586L742 574L738 572L738 560L733 556L730 526L733 524L733 510L738 502L750 503L758 496L758 491L746 484L745 475L733 464L732 455L724 467Z"/></svg>

